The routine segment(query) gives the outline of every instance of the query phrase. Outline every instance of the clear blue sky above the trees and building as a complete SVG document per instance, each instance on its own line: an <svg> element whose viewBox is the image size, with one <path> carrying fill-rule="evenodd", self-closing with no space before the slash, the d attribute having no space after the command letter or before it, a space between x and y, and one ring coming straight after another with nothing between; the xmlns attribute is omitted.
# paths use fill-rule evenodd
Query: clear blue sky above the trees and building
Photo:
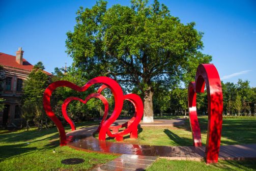
<svg viewBox="0 0 256 171"><path fill-rule="evenodd" d="M152 2L152 1L151 1ZM256 1L159 1L167 5L181 22L195 21L205 33L204 53L224 82L249 80L256 87ZM71 65L65 53L66 33L73 31L77 9L91 8L95 1L46 0L0 1L0 52L15 55L22 47L24 58L32 64L42 61L48 72ZM130 1L108 1L130 5Z"/></svg>

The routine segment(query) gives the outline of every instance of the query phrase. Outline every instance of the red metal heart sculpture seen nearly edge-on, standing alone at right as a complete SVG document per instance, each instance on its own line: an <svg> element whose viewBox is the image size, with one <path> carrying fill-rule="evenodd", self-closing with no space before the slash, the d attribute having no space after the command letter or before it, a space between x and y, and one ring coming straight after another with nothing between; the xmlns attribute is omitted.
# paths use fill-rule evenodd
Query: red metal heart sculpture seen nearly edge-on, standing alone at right
<svg viewBox="0 0 256 171"><path fill-rule="evenodd" d="M196 93L204 93L208 97L208 131L205 157L207 163L218 162L220 137L222 129L223 97L217 69L213 64L201 64L195 74L195 82L188 86L188 110L193 145L202 146L201 131L196 113Z"/></svg>

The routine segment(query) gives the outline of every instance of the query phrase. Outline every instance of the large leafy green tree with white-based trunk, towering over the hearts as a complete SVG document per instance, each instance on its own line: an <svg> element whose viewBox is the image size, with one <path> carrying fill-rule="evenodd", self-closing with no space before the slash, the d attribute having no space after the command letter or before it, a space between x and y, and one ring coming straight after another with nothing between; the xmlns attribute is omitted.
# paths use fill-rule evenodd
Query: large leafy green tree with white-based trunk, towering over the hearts
<svg viewBox="0 0 256 171"><path fill-rule="evenodd" d="M106 75L136 88L144 97L144 122L153 122L153 95L158 87L188 82L202 54L201 32L195 23L181 23L165 5L132 0L131 7L98 1L77 11L73 32L67 33L67 53L90 77Z"/></svg>

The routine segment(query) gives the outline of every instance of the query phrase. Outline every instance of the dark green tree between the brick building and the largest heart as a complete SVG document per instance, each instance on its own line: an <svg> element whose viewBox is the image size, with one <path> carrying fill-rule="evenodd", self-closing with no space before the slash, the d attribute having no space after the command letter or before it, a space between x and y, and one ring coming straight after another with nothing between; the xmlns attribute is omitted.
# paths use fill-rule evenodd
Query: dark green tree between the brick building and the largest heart
<svg viewBox="0 0 256 171"><path fill-rule="evenodd" d="M39 129L47 123L43 109L43 92L50 83L50 78L43 72L42 62L35 65L23 84L22 111L25 120L33 120Z"/></svg>

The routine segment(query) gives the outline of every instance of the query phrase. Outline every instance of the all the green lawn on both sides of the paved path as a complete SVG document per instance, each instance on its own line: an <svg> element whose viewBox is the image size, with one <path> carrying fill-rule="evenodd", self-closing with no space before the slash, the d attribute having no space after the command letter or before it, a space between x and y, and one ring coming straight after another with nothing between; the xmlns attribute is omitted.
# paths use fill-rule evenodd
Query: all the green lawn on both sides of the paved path
<svg viewBox="0 0 256 171"><path fill-rule="evenodd" d="M207 117L200 117L203 145L207 136ZM76 124L77 129L98 123ZM69 127L65 128L70 131ZM157 135L157 136L156 136ZM256 118L224 118L221 145L256 143ZM180 127L142 127L137 140L125 138L127 143L191 146L192 136L189 120ZM56 153L52 153L55 149ZM113 155L86 153L69 147L59 147L59 134L56 127L38 131L0 131L0 170L87 170L97 164L116 158ZM81 158L85 161L76 165L64 165L63 159ZM219 161L206 165L205 162L176 161L159 159L147 170L253 170L255 161Z"/></svg>

